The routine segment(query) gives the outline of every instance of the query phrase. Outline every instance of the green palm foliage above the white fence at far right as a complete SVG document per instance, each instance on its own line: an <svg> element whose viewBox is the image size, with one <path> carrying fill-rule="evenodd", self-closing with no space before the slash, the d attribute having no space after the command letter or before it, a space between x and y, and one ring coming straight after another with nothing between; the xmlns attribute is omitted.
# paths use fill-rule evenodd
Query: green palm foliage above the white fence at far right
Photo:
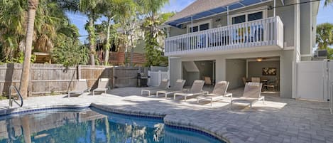
<svg viewBox="0 0 333 143"><path fill-rule="evenodd" d="M316 41L319 49L327 49L333 44L333 24L322 23L317 26Z"/></svg>

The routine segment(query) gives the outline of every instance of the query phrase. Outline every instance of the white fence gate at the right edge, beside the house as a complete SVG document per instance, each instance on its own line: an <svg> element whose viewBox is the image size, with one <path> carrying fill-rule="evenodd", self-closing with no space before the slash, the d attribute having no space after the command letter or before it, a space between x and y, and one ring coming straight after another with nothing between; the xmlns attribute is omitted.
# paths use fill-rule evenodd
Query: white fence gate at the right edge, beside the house
<svg viewBox="0 0 333 143"><path fill-rule="evenodd" d="M302 61L297 63L297 98L329 100L333 114L333 61Z"/></svg>

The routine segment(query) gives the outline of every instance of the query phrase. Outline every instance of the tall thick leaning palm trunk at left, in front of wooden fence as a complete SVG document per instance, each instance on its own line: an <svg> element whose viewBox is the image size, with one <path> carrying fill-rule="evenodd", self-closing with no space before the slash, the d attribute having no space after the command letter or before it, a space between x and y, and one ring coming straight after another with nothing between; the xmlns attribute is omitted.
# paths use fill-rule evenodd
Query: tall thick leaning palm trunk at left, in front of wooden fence
<svg viewBox="0 0 333 143"><path fill-rule="evenodd" d="M38 0L28 1L28 28L26 31L26 49L24 50L24 61L21 75L20 92L23 99L28 97L28 82L30 73L31 47L33 45L33 26L35 23Z"/></svg>

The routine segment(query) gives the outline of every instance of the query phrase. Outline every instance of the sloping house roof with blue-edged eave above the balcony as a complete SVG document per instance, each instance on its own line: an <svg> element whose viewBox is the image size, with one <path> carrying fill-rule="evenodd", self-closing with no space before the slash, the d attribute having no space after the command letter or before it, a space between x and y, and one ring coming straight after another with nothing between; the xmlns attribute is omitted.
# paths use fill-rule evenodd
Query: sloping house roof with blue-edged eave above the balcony
<svg viewBox="0 0 333 143"><path fill-rule="evenodd" d="M264 1L271 0L197 0L175 14L175 16L169 18L165 23L171 26L179 26L180 23L191 21L191 18L195 20L226 12L227 6L229 6L229 11L231 11Z"/></svg>

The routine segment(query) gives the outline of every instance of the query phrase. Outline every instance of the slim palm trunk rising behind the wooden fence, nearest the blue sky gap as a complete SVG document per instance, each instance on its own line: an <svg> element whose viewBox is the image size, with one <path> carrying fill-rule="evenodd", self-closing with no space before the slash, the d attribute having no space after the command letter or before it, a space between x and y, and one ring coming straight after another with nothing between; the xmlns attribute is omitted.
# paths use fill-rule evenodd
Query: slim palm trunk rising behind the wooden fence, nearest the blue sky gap
<svg viewBox="0 0 333 143"><path fill-rule="evenodd" d="M93 15L93 14L92 14ZM94 35L94 17L89 16L89 50L90 50L90 65L95 65L95 35Z"/></svg>

